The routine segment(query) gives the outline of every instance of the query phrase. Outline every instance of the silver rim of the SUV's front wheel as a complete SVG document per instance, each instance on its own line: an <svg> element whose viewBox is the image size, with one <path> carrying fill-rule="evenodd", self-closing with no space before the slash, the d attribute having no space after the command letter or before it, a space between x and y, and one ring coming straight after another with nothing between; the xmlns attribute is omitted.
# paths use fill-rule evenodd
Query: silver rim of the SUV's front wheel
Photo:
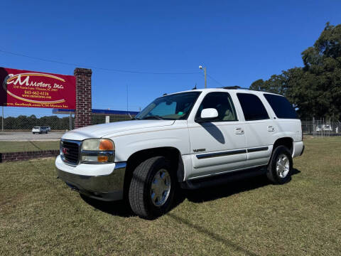
<svg viewBox="0 0 341 256"><path fill-rule="evenodd" d="M163 206L171 192L171 176L166 169L159 170L151 182L151 201L154 206Z"/></svg>

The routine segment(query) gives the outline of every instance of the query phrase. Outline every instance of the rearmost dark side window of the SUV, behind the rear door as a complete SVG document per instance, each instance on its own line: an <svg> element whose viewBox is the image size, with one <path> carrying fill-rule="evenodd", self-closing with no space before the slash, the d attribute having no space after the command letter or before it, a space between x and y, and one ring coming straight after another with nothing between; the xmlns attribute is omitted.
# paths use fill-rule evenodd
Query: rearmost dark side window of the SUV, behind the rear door
<svg viewBox="0 0 341 256"><path fill-rule="evenodd" d="M278 118L297 119L296 111L293 105L286 100L286 97L280 95L264 94L264 97L269 102L272 110L274 110Z"/></svg>

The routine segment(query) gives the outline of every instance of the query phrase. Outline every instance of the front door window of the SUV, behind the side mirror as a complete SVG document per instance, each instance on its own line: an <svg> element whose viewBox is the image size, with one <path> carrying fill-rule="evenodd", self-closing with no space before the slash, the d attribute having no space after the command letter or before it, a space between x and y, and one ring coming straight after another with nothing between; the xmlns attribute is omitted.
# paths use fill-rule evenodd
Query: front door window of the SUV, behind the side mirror
<svg viewBox="0 0 341 256"><path fill-rule="evenodd" d="M199 118L201 111L206 108L215 108L218 112L217 119L212 122L237 121L237 114L231 97L227 92L210 92L202 100L196 117Z"/></svg>

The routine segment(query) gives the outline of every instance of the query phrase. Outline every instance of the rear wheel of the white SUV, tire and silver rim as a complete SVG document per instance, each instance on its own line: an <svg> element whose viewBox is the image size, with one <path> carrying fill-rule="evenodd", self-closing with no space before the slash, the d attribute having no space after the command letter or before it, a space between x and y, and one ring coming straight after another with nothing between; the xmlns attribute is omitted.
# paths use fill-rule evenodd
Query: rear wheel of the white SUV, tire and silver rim
<svg viewBox="0 0 341 256"><path fill-rule="evenodd" d="M274 184L284 184L291 181L293 171L293 158L286 146L277 146L274 149L266 176Z"/></svg>

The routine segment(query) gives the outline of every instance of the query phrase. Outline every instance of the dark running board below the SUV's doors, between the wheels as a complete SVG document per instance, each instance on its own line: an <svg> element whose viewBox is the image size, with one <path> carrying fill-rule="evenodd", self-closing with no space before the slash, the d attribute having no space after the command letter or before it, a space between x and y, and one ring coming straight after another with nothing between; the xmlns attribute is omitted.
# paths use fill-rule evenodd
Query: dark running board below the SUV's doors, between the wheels
<svg viewBox="0 0 341 256"><path fill-rule="evenodd" d="M243 171L233 171L227 174L220 174L215 176L209 176L205 178L197 178L193 180L188 180L180 183L180 187L183 189L197 189L206 188L209 186L217 186L223 183L228 183L231 181L237 181L244 178L249 178L253 176L260 176L266 174L265 166L263 168L254 168Z"/></svg>

